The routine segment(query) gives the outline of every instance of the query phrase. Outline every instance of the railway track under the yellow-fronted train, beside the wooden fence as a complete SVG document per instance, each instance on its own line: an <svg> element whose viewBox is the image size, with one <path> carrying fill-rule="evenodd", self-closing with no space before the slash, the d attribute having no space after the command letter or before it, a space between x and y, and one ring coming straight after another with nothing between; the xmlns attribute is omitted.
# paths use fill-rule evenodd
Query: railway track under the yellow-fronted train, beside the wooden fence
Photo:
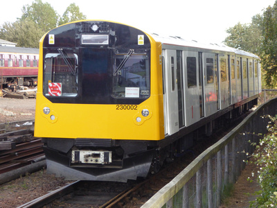
<svg viewBox="0 0 277 208"><path fill-rule="evenodd" d="M184 170L197 155L226 135L245 116L244 114L240 119L236 119L229 128L224 127L208 139L200 141L197 146L177 157L174 162L166 164L159 173L150 175L141 182L77 181L27 202L21 207L141 207Z"/></svg>

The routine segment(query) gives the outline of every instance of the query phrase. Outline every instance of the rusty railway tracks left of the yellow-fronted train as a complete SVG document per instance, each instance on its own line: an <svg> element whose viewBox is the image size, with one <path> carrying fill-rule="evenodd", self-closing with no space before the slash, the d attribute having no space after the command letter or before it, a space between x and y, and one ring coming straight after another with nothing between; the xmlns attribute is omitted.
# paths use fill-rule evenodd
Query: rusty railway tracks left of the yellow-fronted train
<svg viewBox="0 0 277 208"><path fill-rule="evenodd" d="M0 124L0 174L45 158L33 125L33 120Z"/></svg>

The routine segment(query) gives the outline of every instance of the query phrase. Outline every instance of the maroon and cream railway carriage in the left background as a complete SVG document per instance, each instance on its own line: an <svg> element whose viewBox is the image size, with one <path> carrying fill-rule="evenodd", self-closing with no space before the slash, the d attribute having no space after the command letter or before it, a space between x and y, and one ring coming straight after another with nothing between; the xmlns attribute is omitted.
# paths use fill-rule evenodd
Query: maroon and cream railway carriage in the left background
<svg viewBox="0 0 277 208"><path fill-rule="evenodd" d="M0 84L37 85L39 49L0 46Z"/></svg>

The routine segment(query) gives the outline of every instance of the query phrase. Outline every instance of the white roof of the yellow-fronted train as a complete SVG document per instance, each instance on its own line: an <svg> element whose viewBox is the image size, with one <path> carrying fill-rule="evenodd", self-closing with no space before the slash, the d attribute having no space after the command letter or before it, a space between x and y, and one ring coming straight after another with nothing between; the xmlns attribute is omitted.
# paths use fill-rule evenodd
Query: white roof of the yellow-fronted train
<svg viewBox="0 0 277 208"><path fill-rule="evenodd" d="M204 44L204 43L197 42L195 40L191 40L191 41L184 40L183 38L178 37L178 36L162 37L155 33L152 33L151 36L154 38L155 41L161 42L162 44L195 47L195 48L199 48L199 49L209 49L209 50L214 50L214 51L233 52L238 55L247 55L247 56L251 56L253 58L259 58L257 55L255 55L253 53L249 53L247 51L242 51L240 49L234 49L234 48L231 48L224 44Z"/></svg>

